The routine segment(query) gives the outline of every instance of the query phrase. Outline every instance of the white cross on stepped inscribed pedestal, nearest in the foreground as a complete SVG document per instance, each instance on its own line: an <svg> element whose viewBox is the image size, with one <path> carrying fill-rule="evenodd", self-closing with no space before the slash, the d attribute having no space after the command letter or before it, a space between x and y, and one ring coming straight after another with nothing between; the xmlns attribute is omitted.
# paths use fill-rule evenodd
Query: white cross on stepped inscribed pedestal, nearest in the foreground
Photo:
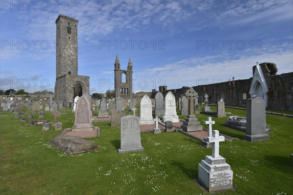
<svg viewBox="0 0 293 195"><path fill-rule="evenodd" d="M226 159L219 155L219 142L224 140L219 131L213 130L212 137L207 137L207 141L212 143L212 155L198 164L198 182L209 192L233 188L233 171Z"/></svg>

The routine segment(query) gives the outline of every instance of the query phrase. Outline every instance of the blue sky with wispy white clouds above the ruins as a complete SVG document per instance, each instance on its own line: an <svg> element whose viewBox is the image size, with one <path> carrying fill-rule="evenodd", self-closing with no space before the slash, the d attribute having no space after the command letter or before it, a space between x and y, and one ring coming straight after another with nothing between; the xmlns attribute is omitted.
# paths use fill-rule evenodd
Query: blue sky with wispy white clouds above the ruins
<svg viewBox="0 0 293 195"><path fill-rule="evenodd" d="M256 61L293 72L292 0L0 0L0 89L54 92L59 14L79 20L90 94L114 89L116 55L134 92L251 78Z"/></svg>

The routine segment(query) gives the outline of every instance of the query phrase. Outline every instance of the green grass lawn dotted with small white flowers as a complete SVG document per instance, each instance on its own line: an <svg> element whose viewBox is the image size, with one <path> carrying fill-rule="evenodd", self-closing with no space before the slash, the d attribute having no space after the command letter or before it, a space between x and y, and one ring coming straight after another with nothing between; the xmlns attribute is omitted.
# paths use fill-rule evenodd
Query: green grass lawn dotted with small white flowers
<svg viewBox="0 0 293 195"><path fill-rule="evenodd" d="M245 110L226 111L246 116ZM139 109L136 113L139 115ZM216 121L213 129L239 138L220 142L220 155L231 166L236 189L220 194L293 194L293 162L289 157L293 154L293 120L266 116L272 128L270 140L253 143L242 140L243 132L223 126L225 118L211 116ZM208 116L196 117L206 127L203 121ZM45 111L45 118L54 121L49 111ZM58 120L68 128L74 116L68 110ZM95 122L101 127L101 137L88 139L99 145L100 151L68 156L47 144L61 131L51 127L52 131L42 132L41 126L24 124L11 113L0 113L1 195L207 194L193 179L197 178L198 163L211 155L211 149L179 132L141 133L144 152L118 154L120 128L111 128L110 122Z"/></svg>

